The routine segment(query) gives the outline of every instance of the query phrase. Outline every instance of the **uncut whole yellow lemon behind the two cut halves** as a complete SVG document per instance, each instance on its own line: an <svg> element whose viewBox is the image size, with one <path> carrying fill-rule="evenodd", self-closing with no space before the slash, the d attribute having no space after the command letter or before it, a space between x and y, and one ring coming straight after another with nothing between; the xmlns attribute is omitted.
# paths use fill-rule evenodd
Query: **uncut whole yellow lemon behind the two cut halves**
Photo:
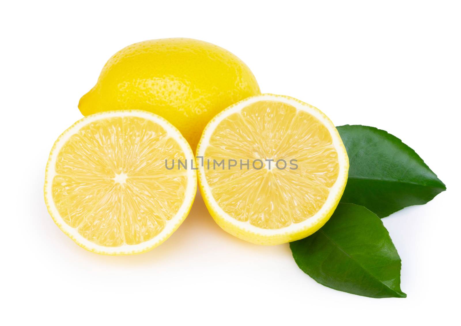
<svg viewBox="0 0 461 326"><path fill-rule="evenodd" d="M214 115L259 93L253 73L231 52L200 40L160 39L114 54L78 108L83 115L121 109L153 112L177 127L195 150Z"/></svg>

